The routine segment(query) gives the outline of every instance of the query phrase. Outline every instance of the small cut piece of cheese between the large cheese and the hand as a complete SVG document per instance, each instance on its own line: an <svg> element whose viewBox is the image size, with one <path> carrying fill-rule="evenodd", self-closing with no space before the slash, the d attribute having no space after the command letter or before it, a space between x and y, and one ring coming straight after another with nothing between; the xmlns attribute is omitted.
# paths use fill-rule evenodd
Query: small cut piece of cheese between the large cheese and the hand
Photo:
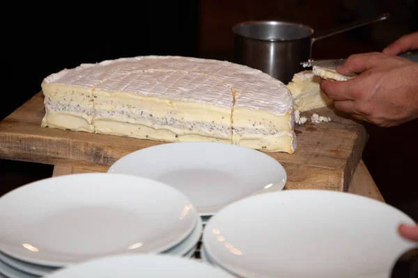
<svg viewBox="0 0 418 278"><path fill-rule="evenodd" d="M297 72L287 85L294 98L294 108L300 112L330 106L332 99L320 90L320 76L310 70Z"/></svg>

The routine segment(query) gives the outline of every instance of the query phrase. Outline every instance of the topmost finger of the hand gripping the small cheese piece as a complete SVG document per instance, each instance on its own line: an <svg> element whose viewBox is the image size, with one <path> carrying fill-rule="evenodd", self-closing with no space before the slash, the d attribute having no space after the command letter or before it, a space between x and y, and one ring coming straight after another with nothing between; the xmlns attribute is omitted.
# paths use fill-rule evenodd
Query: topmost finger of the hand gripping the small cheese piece
<svg viewBox="0 0 418 278"><path fill-rule="evenodd" d="M347 58L343 65L336 69L336 72L347 76L353 76L353 74L361 73L374 67L378 60L384 56L385 54L377 52L353 54Z"/></svg>

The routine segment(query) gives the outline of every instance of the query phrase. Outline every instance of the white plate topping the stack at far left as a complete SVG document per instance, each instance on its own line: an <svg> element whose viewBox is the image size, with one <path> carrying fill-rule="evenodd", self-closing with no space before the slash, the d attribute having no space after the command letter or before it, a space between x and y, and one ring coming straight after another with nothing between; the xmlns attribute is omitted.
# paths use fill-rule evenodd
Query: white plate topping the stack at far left
<svg viewBox="0 0 418 278"><path fill-rule="evenodd" d="M0 250L48 266L155 254L189 236L198 218L190 200L164 183L72 174L29 183L0 198Z"/></svg>

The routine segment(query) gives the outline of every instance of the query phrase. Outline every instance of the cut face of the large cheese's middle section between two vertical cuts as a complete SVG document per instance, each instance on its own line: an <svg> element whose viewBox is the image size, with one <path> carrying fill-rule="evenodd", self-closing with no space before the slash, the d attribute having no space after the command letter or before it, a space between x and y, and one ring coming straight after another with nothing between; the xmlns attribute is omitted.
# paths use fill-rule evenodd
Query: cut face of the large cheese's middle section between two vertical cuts
<svg viewBox="0 0 418 278"><path fill-rule="evenodd" d="M143 97L130 92L95 90L95 117L231 140L231 109L210 104ZM232 102L232 101L231 101Z"/></svg>

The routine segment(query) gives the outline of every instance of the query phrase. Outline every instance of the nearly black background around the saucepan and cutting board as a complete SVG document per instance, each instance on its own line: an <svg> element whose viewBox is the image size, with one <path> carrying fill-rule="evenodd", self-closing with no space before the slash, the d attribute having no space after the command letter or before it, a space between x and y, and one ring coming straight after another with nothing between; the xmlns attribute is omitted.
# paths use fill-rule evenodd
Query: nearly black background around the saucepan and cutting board
<svg viewBox="0 0 418 278"><path fill-rule="evenodd" d="M233 61L231 27L247 20L300 22L323 31L380 13L392 14L384 22L319 40L314 58L381 51L401 35L418 31L417 0L108 3L93 8L36 3L3 22L0 119L39 92L45 76L80 63L149 54ZM366 128L370 139L363 159L383 197L418 220L417 121L390 129ZM0 195L52 174L52 165L0 160L0 167Z"/></svg>

